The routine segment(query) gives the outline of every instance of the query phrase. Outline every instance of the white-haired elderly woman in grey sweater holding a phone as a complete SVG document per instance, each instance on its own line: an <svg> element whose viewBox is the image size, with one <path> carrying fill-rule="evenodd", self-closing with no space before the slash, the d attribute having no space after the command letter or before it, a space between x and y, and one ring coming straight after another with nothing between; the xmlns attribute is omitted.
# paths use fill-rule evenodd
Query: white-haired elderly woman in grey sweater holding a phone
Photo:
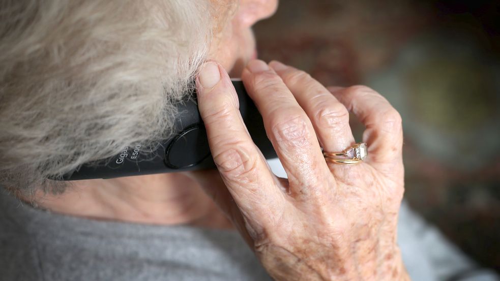
<svg viewBox="0 0 500 281"><path fill-rule="evenodd" d="M2 280L409 279L396 240L399 114L367 87L327 88L256 60L250 27L276 0L0 7ZM247 133L231 76L242 78L287 179ZM193 79L218 171L48 179L169 137ZM366 126L368 149L356 151L369 155L350 155L357 165L335 158L356 143L349 111ZM472 268L443 248L452 271L432 272L438 255L415 247L410 273L432 280Z"/></svg>

